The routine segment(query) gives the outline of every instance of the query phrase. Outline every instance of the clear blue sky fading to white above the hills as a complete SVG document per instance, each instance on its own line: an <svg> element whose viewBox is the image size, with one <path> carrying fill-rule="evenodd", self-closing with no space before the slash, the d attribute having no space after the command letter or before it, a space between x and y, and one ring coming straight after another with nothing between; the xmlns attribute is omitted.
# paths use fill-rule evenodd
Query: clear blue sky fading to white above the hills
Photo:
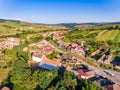
<svg viewBox="0 0 120 90"><path fill-rule="evenodd" d="M0 18L33 23L120 21L120 0L0 0Z"/></svg>

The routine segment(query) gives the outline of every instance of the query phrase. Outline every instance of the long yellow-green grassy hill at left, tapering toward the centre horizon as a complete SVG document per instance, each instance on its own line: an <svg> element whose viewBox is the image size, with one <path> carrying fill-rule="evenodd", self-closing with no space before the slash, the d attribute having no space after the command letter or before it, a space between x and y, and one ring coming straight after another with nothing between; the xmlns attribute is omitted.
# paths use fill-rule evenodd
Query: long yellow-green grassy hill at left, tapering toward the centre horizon
<svg viewBox="0 0 120 90"><path fill-rule="evenodd" d="M43 30L62 30L62 29L67 28L64 26L50 26L50 25L48 26L19 20L0 19L0 36L21 33L22 31L40 32Z"/></svg>

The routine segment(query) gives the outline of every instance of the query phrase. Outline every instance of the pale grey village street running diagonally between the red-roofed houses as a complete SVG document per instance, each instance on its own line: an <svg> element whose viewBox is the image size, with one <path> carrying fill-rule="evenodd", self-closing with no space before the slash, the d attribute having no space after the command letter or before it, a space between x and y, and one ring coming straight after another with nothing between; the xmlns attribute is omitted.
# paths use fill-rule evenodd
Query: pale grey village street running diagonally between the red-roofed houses
<svg viewBox="0 0 120 90"><path fill-rule="evenodd" d="M49 43L48 41L44 40L46 43L50 44L52 47L54 47L56 50L58 50L59 52L63 52L62 50L59 50L57 47L53 46L51 43ZM65 52L64 52L65 53ZM112 71L112 70L106 70L106 69L102 69L100 67L95 67L95 66L92 66L88 63L86 63L85 61L83 61L82 59L80 58L77 58L78 60L81 61L82 64L84 65L87 65L88 68L90 70L97 70L98 71L98 75L101 75L103 77L106 77L108 79L110 79L111 81L115 82L116 84L119 84L120 85L120 73L119 72L116 72L116 71ZM110 72L112 74L114 74L114 76L110 76L108 75L107 73L105 73L105 71L107 72Z"/></svg>

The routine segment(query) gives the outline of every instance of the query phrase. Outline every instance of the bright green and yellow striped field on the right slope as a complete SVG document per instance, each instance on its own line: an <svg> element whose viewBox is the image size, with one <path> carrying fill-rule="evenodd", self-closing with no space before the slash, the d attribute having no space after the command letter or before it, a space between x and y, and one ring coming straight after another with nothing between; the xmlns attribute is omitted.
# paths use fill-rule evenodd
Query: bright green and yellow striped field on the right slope
<svg viewBox="0 0 120 90"><path fill-rule="evenodd" d="M97 41L111 40L113 42L120 42L120 30L102 31L96 37Z"/></svg>

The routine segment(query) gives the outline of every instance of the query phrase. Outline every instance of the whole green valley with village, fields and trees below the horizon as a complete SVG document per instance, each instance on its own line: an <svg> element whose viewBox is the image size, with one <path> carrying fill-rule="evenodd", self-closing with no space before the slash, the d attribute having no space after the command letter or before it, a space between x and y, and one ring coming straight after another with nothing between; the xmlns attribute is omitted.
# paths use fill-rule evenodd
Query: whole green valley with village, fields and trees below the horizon
<svg viewBox="0 0 120 90"><path fill-rule="evenodd" d="M68 26L1 21L0 85L13 90L119 87L119 28ZM97 85L98 79L106 83Z"/></svg>

